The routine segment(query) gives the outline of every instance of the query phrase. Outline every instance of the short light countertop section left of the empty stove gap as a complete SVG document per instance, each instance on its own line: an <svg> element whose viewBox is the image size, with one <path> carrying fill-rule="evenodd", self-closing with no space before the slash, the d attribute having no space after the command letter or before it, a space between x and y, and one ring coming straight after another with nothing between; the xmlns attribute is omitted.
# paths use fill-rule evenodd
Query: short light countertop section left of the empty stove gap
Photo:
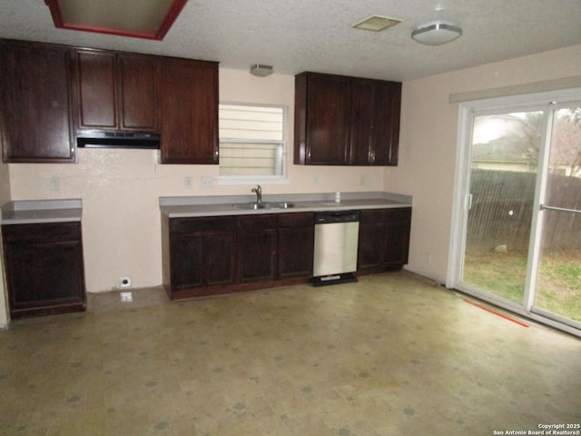
<svg viewBox="0 0 581 436"><path fill-rule="evenodd" d="M83 201L25 200L6 203L0 208L1 224L69 223L81 221Z"/></svg>

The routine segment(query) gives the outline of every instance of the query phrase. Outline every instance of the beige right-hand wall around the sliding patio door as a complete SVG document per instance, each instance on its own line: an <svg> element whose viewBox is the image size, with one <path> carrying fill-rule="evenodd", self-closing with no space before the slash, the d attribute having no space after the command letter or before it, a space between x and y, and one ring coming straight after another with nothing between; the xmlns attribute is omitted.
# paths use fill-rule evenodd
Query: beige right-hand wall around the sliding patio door
<svg viewBox="0 0 581 436"><path fill-rule="evenodd" d="M450 94L580 74L576 45L404 83L399 166L386 169L384 187L414 198L409 270L446 281L458 143L458 104L448 103Z"/></svg>

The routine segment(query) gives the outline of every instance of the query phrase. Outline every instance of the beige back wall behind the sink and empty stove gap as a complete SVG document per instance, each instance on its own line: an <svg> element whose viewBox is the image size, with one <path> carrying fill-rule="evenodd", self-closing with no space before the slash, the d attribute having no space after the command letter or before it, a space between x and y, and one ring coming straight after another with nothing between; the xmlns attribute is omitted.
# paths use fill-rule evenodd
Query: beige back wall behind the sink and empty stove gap
<svg viewBox="0 0 581 436"><path fill-rule="evenodd" d="M284 104L288 107L289 151L292 150L294 77L254 77L246 71L220 70L220 98L228 102ZM172 195L251 194L251 184L202 189L201 177L218 174L215 165L161 165L151 150L80 149L77 164L10 164L13 200L83 199L85 279L89 292L117 286L129 275L133 287L162 282L158 200ZM292 165L288 184L262 185L263 193L380 191L382 168L304 167ZM368 185L361 185L361 176ZM193 177L184 187L183 178ZM313 179L318 177L319 183ZM60 189L50 190L51 179Z"/></svg>

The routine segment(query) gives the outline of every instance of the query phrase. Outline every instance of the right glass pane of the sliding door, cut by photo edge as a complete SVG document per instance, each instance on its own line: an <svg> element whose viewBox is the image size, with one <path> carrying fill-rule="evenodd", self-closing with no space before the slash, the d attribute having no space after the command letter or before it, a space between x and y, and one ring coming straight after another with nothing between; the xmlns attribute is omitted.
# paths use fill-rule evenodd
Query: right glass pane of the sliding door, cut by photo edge
<svg viewBox="0 0 581 436"><path fill-rule="evenodd" d="M557 109L552 116L533 307L573 325L581 325L580 106Z"/></svg>

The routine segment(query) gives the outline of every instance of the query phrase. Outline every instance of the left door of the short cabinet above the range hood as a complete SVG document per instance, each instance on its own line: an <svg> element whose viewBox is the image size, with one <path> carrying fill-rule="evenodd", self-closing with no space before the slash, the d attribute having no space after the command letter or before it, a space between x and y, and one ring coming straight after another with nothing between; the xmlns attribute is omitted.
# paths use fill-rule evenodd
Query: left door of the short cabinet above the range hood
<svg viewBox="0 0 581 436"><path fill-rule="evenodd" d="M115 54L77 50L75 67L77 127L116 129Z"/></svg>

